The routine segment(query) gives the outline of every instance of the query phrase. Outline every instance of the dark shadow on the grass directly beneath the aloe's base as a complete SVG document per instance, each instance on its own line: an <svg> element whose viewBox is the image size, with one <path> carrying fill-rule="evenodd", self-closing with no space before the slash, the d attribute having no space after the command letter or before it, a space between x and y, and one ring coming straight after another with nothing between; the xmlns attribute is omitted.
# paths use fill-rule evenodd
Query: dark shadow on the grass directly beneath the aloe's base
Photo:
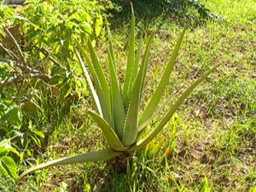
<svg viewBox="0 0 256 192"><path fill-rule="evenodd" d="M107 161L106 164L86 166L86 173L73 175L77 178L68 183L68 191L160 191L154 172L149 171L149 167L154 166L153 163L143 160L135 162L131 159L129 162L136 166L130 164L130 172L116 170L116 167L112 166L113 160Z"/></svg>

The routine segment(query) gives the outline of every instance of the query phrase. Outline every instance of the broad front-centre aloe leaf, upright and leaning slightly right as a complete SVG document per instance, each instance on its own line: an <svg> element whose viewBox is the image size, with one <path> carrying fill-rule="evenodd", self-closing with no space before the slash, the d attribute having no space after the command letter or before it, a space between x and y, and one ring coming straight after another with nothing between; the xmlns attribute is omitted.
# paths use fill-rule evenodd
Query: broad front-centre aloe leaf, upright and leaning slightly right
<svg viewBox="0 0 256 192"><path fill-rule="evenodd" d="M138 121L138 112L139 106L143 94L143 84L148 68L148 57L149 50L152 44L153 36L148 39L147 48L145 50L145 54L143 56L142 66L137 75L136 82L134 84L132 93L131 93L131 101L128 108L127 116L125 119L125 130L124 137L122 142L125 146L130 146L136 141L137 138L137 121Z"/></svg>

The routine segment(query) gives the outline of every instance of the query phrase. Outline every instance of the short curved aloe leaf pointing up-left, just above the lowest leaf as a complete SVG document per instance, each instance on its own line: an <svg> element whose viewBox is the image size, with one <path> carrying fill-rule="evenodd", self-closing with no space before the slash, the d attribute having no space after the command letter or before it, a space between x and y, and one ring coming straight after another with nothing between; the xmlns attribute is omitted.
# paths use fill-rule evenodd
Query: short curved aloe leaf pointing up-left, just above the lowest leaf
<svg viewBox="0 0 256 192"><path fill-rule="evenodd" d="M97 125L102 129L104 136L106 137L108 144L111 148L117 151L124 151L127 147L121 143L117 134L113 131L113 128L108 125L105 119L102 119L100 115L89 110L90 116L96 120Z"/></svg>

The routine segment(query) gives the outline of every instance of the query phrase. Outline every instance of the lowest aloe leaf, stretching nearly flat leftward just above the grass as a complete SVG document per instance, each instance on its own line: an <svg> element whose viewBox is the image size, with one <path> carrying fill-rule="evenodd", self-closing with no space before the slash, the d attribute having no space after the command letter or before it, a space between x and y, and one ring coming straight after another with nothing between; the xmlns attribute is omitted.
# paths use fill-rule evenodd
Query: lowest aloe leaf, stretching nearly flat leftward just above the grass
<svg viewBox="0 0 256 192"><path fill-rule="evenodd" d="M115 151L112 148L105 148L105 149L102 149L101 151L92 152L88 154L77 154L72 157L64 157L58 160L52 160L52 161L40 164L38 166L33 166L32 168L26 170L26 172L23 172L20 175L19 179L26 176L30 172L37 171L38 169L43 169L50 166L62 166L67 164L95 162L99 160L110 160L118 156L119 154L122 154L122 152Z"/></svg>

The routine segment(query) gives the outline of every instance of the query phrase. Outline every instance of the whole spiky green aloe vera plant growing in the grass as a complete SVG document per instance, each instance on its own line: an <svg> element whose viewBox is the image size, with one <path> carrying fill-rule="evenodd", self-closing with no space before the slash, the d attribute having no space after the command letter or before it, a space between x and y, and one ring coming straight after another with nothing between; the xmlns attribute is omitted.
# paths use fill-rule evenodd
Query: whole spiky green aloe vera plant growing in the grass
<svg viewBox="0 0 256 192"><path fill-rule="evenodd" d="M143 58L140 61L142 43L140 42L137 51L135 51L135 17L133 12L131 17L130 47L123 86L118 78L116 70L117 61L115 60L111 40L109 41L107 59L110 77L109 82L102 70L102 66L90 40L88 41L89 54L84 51L79 42L76 42L78 48L76 50L76 54L79 64L81 65L84 77L90 86L91 94L96 103L98 112L96 113L93 110L89 110L88 113L102 129L109 147L97 152L78 154L34 166L26 172L23 172L20 177L25 176L29 172L34 172L38 169L49 166L109 160L119 154L144 148L148 143L150 143L150 141L152 141L152 139L154 139L154 137L156 137L163 129L169 119L172 118L173 113L176 112L177 108L189 96L195 87L206 79L207 76L216 69L216 67L218 67L212 67L212 69L201 76L201 78L195 80L195 82L177 98L177 101L172 104L172 107L164 115L163 119L160 119L159 125L150 130L148 135L141 138L148 123L150 123L151 120L153 120L171 101L172 96L169 96L169 98L166 99L166 102L160 105L160 100L166 89L168 80L170 79L178 49L183 41L184 33L185 29L178 38L177 44L172 52L172 56L166 65L165 72L160 79L160 83L144 110L140 108L140 103L143 97L143 85L148 68L149 49L152 44L153 36L148 38ZM110 32L108 34L110 36ZM85 63L88 68L85 67ZM140 110L143 110L141 115L139 115Z"/></svg>

